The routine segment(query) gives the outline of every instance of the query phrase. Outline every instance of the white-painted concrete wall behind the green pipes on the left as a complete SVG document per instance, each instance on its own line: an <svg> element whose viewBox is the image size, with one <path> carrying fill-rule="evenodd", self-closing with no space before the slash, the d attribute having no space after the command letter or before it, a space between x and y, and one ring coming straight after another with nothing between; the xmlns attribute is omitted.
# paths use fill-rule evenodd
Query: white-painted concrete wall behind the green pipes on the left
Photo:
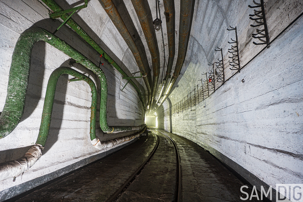
<svg viewBox="0 0 303 202"><path fill-rule="evenodd" d="M94 2L90 1L89 6L93 6L92 3ZM12 53L18 37L25 29L31 26L43 27L49 31L54 31L61 22L47 19L49 18L49 10L39 1L0 1L0 14L0 75L2 77L0 82L0 111L2 111L5 104ZM100 18L99 14L94 15L95 16L90 15L90 17L95 17L94 19L98 20L103 19L102 17ZM108 18L105 12L101 16ZM103 33L101 38L106 41L111 48L117 48L112 49L112 51L122 60L124 57L123 54L127 52L127 47L121 42L123 39L106 40L104 38L105 36L111 36L106 35L106 32L114 30L113 25L108 19L104 21L109 27L98 27L98 30ZM83 22L82 25L85 26ZM97 28L97 26L94 28ZM100 33L98 33L98 35L99 34ZM56 35L98 65L99 54L80 39L74 31L63 26ZM118 34L114 33L112 35ZM118 48L116 45L110 44L113 43L113 41L120 45L122 44L122 47ZM127 61L126 64L120 62L120 65L123 67L125 67L125 65L130 65L132 68L136 67L132 55L128 58L127 60L127 57L125 57L125 61ZM35 143L39 132L48 78L52 71L59 66L70 67L68 64L69 59L67 55L43 41L35 44L32 51L31 71L24 115L15 130L8 136L0 139L0 162L22 157L30 146ZM95 81L97 89L100 90L100 81L92 71L78 64L75 64L73 68L83 72L85 75L89 74L90 78ZM121 89L125 85L126 80L122 79L121 74L106 63L101 66L101 68L105 72L108 81L108 124L112 126L142 125L144 110L142 103L138 103L139 98L135 89L128 84L122 92ZM81 167L85 163L87 164L96 160L95 158L85 160L88 157L93 157L97 154L104 156L111 152L110 150L112 148L99 151L90 143L91 90L88 84L84 81L68 83L68 78L72 78L72 76L62 75L57 84L49 136L45 149L42 151L42 157L22 176L17 177L15 182L12 181L12 178L0 182L1 201L5 200L7 196L12 197L18 194L18 191L26 191L48 180L52 180L54 177ZM142 88L142 90L144 89ZM98 103L99 102L98 100ZM101 140L109 140L133 133L135 133L135 131L111 135L103 134L97 121L97 136L99 136ZM80 161L82 163L78 163ZM70 167L72 164L74 164L74 166ZM60 169L62 171L56 175L48 175ZM32 183L30 186L26 184L41 176L48 177L39 182L35 181L35 183ZM26 184L24 185L25 187L22 184ZM16 190L15 192L12 191L14 189Z"/></svg>

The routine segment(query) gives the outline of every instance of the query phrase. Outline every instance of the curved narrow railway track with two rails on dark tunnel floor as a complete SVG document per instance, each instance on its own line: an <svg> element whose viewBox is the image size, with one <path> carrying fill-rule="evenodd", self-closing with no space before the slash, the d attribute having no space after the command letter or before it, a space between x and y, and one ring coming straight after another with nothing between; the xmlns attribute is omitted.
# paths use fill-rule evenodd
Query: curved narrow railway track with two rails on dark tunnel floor
<svg viewBox="0 0 303 202"><path fill-rule="evenodd" d="M156 187L156 188L153 188L153 192L158 192L158 193L163 192L163 193L166 193L166 194L168 192L171 192L170 193L171 195L168 196L168 198L169 197L171 197L171 198L168 201L176 201L176 202L181 201L181 165L180 165L180 155L179 155L179 152L178 152L177 145L176 145L175 141L171 137L169 137L167 134L164 134L164 133L162 133L161 131L159 131L155 128L153 128L151 131L157 136L157 139L158 139L158 143L155 146L154 150L149 155L149 158L142 164L142 166L128 180L128 182L125 183L108 200L108 202L111 202L111 201L116 201L116 202L130 201L130 200L134 201L134 198L137 201L142 201L143 200L142 198L144 198L144 197L146 197L146 198L151 197L152 198L153 196L144 196L144 194L146 193L146 190L148 190L148 187L150 186L150 184L153 184L153 186ZM159 135L161 137L159 137ZM169 140L172 144L167 143L167 141L164 138L166 140ZM161 171L161 169L159 169L159 171L158 171L159 174L162 174L164 172L163 176L161 176L162 179L167 179L167 178L172 179L172 178L174 178L174 180L175 180L174 189L169 189L168 188L167 190L161 190L161 188L163 189L163 187L160 186L160 185L157 185L157 181L156 182L149 181L151 179L149 179L148 176L151 176L151 175L155 174L154 173L155 170L153 168L149 169L149 167L151 167L151 166L161 167L161 164L163 164L163 163L165 163L165 161L167 161L167 159L165 159L165 158L162 159L161 158L165 155L161 154L161 153L163 153L163 151L158 150L159 144L161 144L161 147L168 147L170 145L171 147L173 147L173 150L175 151L175 168L176 168L175 169L175 174L174 174L174 172L166 172L165 173L165 171ZM155 154L156 154L157 157L155 157ZM160 157L161 160L158 157ZM171 155L169 155L168 157L170 159L174 158ZM145 174L141 175L143 170L147 170L147 171L145 171ZM165 170L165 169L163 169L163 170ZM164 176L164 175L171 175L171 176ZM163 180L163 181L165 181L165 180ZM170 184L170 182L171 181L164 182L164 183ZM146 188L144 188L142 186L146 186ZM128 190L129 187L131 187L130 191ZM134 189L135 187L139 187L139 189L136 190L136 189ZM165 188L166 187L164 186L164 189ZM157 189L157 190L155 190L155 189ZM134 193L134 192L140 193L139 194L140 196L136 196L136 197L132 198L133 196L132 196L131 193ZM166 199L168 199L168 198L166 198ZM156 198L154 198L154 199L156 200Z"/></svg>

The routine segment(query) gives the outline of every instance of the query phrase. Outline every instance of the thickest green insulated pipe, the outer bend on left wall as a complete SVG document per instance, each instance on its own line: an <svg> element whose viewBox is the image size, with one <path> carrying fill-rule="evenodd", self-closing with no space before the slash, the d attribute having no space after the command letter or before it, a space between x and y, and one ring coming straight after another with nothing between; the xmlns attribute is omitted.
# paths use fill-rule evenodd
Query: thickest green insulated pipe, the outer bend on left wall
<svg viewBox="0 0 303 202"><path fill-rule="evenodd" d="M29 28L18 38L12 55L12 64L8 78L7 96L0 116L0 138L10 134L18 125L24 111L28 86L32 48L37 41L45 41L84 67L92 70L100 79L100 127L105 133L131 131L137 127L108 126L107 124L107 81L104 72L92 61L66 44L64 41L42 28Z"/></svg>

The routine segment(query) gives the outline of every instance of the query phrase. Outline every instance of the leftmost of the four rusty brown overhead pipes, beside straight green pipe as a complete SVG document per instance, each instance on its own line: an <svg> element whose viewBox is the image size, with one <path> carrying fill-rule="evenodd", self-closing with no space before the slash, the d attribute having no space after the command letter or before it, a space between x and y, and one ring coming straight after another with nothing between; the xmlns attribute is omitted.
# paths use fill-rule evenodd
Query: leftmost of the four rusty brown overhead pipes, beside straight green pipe
<svg viewBox="0 0 303 202"><path fill-rule="evenodd" d="M138 68L143 75L143 80L145 82L145 85L146 85L146 88L148 91L147 106L149 106L150 100L151 100L151 88L150 88L150 85L148 82L147 72L143 65L143 61L142 61L141 55L139 53L139 50L135 44L135 41L133 40L128 29L126 28L125 23L123 22L121 15L119 14L119 12L118 12L117 8L115 7L114 3L112 2L112 0L99 0L99 2L101 3L101 5L104 8L105 12L107 13L108 17L112 20L115 27L118 29L119 33L121 34L122 38L128 45L128 48L132 51L132 54L135 57Z"/></svg>

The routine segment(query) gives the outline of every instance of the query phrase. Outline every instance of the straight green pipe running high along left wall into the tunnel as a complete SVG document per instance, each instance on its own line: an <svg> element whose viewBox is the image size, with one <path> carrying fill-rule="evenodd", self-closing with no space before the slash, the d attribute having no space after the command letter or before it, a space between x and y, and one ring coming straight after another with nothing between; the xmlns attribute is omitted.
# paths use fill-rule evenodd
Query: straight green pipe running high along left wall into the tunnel
<svg viewBox="0 0 303 202"><path fill-rule="evenodd" d="M54 0L42 0L42 2L44 2L54 12L63 11L63 9ZM67 13L63 14L61 16L61 19L65 21L68 16L69 15ZM90 36L88 36L88 34L72 18L70 18L66 24L68 24L80 37L82 37L89 45L91 45L92 48L100 53L100 55L102 55L111 65L113 65L122 74L123 77L128 77L125 71L123 71L123 69L121 69L121 67ZM136 89L139 94L140 100L142 100L142 93L140 89L136 86L132 79L129 80L129 83L132 84L132 86ZM145 110L145 104L143 104L143 108Z"/></svg>

